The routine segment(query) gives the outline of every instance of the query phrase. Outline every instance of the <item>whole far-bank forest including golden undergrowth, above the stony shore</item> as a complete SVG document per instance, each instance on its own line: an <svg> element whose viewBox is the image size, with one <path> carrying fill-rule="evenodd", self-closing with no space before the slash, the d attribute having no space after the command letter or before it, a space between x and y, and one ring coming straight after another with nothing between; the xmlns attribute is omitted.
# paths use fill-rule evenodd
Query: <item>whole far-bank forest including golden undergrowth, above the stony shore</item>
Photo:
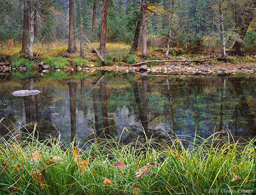
<svg viewBox="0 0 256 195"><path fill-rule="evenodd" d="M1 2L0 52L11 56L89 59L96 52L109 65L183 54L255 57L254 0Z"/></svg>

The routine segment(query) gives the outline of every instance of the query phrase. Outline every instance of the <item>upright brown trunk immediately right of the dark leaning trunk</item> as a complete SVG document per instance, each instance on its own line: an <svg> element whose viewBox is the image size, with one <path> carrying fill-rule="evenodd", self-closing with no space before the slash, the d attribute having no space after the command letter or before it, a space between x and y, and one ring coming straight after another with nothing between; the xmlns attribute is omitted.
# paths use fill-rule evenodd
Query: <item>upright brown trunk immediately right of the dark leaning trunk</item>
<svg viewBox="0 0 256 195"><path fill-rule="evenodd" d="M148 56L147 54L147 44L146 44L146 0L141 1L141 25L142 25L142 53L141 58L145 58Z"/></svg>

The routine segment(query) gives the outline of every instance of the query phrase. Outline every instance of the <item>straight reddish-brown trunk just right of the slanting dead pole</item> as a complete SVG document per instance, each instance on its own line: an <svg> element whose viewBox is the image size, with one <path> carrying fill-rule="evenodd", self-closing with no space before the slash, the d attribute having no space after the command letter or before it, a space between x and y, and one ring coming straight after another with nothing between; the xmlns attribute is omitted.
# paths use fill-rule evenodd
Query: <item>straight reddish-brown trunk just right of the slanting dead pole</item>
<svg viewBox="0 0 256 195"><path fill-rule="evenodd" d="M108 12L108 0L103 0L101 10L101 25L100 25L100 44L99 51L101 54L106 52L106 15Z"/></svg>

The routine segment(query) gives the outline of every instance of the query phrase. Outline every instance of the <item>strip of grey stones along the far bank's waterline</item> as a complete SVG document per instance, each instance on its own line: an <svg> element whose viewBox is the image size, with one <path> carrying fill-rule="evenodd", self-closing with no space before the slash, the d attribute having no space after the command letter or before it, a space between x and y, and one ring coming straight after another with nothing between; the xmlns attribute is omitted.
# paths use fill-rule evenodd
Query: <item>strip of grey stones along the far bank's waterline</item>
<svg viewBox="0 0 256 195"><path fill-rule="evenodd" d="M19 70L26 71L26 67L11 68L5 64L0 64L0 72L9 72L11 70ZM39 72L47 73L49 71L60 71L59 68L49 67L47 64L39 63ZM155 74L171 74L171 75L212 75L212 74L254 74L256 75L256 66L254 64L249 65L234 65L229 63L218 65L218 64L193 64L193 63L170 63L163 66L156 67L147 67L147 65L143 65L140 67L122 67L122 66L112 66L112 67L63 67L64 71L82 71L82 72L93 72L93 71L115 71L115 72L141 72L143 74L146 73L155 73Z"/></svg>

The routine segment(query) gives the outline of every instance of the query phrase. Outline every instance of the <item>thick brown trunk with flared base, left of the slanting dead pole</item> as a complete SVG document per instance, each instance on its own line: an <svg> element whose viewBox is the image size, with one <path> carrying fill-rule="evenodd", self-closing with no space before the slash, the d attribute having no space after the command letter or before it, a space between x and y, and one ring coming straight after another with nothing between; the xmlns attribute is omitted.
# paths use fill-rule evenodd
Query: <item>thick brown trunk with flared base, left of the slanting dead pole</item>
<svg viewBox="0 0 256 195"><path fill-rule="evenodd" d="M74 11L74 0L69 1L69 47L68 53L77 52L75 44L75 11Z"/></svg>

